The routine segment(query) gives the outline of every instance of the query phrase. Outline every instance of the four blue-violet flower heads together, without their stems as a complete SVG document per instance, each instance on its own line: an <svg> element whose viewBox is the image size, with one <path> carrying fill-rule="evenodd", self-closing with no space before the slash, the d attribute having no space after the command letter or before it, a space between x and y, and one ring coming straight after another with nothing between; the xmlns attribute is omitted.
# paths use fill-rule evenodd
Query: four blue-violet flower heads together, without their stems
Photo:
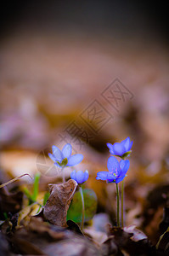
<svg viewBox="0 0 169 256"><path fill-rule="evenodd" d="M124 160L131 153L132 143L130 137L127 137L121 143L107 143L110 149L110 154L121 157L121 161L115 159L115 156L110 156L107 162L107 168L109 172L98 172L96 179L106 180L107 183L120 183L127 175L127 171L130 166L129 160ZM82 154L73 154L70 143L67 143L62 150L56 146L52 147L53 154L48 153L51 160L54 161L55 166L76 166L83 160ZM82 184L87 181L88 172L82 172L75 170L71 172L70 177L78 184Z"/></svg>

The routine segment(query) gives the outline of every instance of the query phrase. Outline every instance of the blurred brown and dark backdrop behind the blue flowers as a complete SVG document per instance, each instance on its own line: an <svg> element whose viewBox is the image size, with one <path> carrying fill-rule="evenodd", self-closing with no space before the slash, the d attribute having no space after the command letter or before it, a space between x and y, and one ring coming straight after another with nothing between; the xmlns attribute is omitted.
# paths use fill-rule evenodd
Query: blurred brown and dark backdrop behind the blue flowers
<svg viewBox="0 0 169 256"><path fill-rule="evenodd" d="M77 168L90 172L99 210L110 212L114 186L96 181L96 172L106 170L106 143L129 136L127 224L143 223L149 191L167 190L169 182L166 10L165 2L151 1L3 3L1 182L25 172L54 181L48 152L71 143L84 155Z"/></svg>

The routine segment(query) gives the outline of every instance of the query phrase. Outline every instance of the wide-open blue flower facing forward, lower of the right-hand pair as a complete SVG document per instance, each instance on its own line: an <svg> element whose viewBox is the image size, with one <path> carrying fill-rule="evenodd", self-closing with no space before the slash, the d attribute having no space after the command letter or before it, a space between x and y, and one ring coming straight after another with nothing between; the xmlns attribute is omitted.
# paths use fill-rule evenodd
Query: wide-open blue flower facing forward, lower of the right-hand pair
<svg viewBox="0 0 169 256"><path fill-rule="evenodd" d="M119 163L115 156L110 156L107 161L109 172L98 172L96 179L106 180L107 183L120 183L126 177L129 166L129 160L121 160Z"/></svg>

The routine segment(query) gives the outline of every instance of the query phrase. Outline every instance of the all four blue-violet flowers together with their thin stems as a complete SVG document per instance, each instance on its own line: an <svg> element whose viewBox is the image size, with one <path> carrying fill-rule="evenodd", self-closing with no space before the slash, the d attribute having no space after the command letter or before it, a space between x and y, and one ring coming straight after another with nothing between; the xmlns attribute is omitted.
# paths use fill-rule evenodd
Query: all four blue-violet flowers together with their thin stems
<svg viewBox="0 0 169 256"><path fill-rule="evenodd" d="M117 226L120 227L120 194L118 183L123 181L123 179L127 176L127 171L130 166L129 160L124 160L130 153L132 148L132 142L130 138L127 137L125 140L121 141L121 143L114 143L113 145L107 143L108 148L110 149L110 154L113 154L109 157L107 161L108 172L98 172L96 179L105 180L107 183L116 183L116 195L117 195ZM51 160L54 161L55 166L59 166L62 169L62 177L63 182L65 183L65 166L76 166L83 160L82 154L73 154L72 147L70 143L67 143L62 150L57 148L56 146L52 147L53 154L49 153L48 156ZM115 156L121 157L121 160L116 160ZM84 203L84 195L82 191L82 183L85 183L88 179L88 171L82 172L74 170L70 173L70 178L74 179L76 183L79 185L79 191L82 198L82 221L81 221L81 229L83 228L84 220L85 220L85 203ZM121 226L124 224L123 212L124 212L124 183L121 186Z"/></svg>

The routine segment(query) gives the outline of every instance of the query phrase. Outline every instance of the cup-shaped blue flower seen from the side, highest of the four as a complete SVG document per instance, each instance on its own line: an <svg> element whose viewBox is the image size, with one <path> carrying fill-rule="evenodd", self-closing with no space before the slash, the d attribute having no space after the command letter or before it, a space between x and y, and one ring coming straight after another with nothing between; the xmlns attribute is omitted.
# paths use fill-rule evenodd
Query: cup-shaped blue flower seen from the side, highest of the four
<svg viewBox="0 0 169 256"><path fill-rule="evenodd" d="M107 146L110 148L110 154L114 154L123 158L131 153L130 149L132 148L132 143L133 142L130 141L130 137L127 137L121 143L114 143L113 145L107 143Z"/></svg>

